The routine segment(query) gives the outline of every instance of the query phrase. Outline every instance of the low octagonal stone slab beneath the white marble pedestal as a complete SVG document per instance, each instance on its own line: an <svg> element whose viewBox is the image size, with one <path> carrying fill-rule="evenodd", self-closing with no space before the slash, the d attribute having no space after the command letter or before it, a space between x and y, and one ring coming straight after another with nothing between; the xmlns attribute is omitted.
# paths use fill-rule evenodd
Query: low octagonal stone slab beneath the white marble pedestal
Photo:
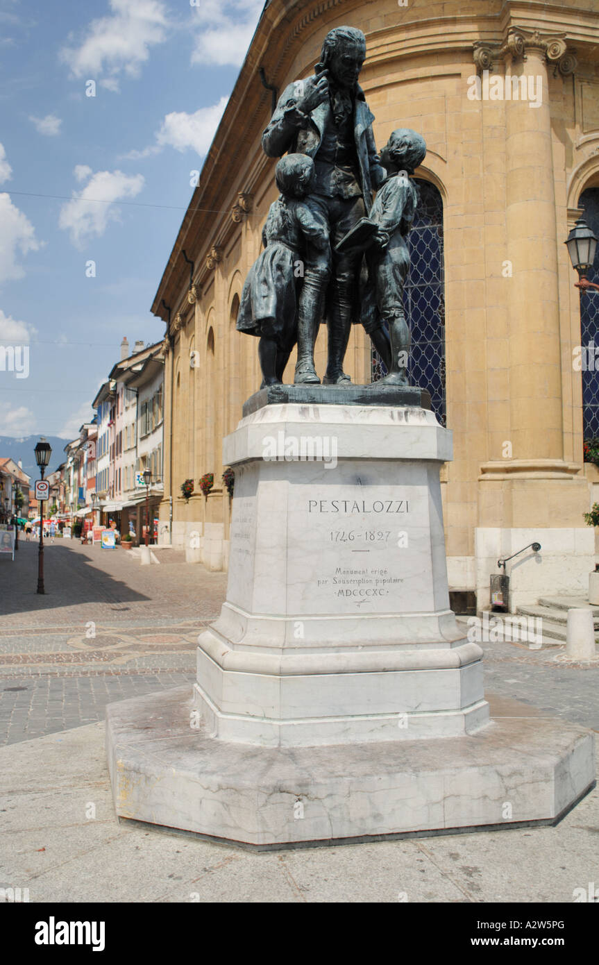
<svg viewBox="0 0 599 965"><path fill-rule="evenodd" d="M191 687L107 707L115 808L258 849L554 824L594 786L593 734L494 721L474 735L261 747L198 730Z"/></svg>

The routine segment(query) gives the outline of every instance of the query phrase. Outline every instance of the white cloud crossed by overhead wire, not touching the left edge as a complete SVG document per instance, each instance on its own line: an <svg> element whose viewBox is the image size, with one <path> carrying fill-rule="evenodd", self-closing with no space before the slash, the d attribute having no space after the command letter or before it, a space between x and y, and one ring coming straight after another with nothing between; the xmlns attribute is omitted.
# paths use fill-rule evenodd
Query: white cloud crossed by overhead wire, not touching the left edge
<svg viewBox="0 0 599 965"><path fill-rule="evenodd" d="M123 171L97 171L85 164L77 164L75 178L90 178L81 191L61 208L59 228L70 233L76 248L83 248L93 237L100 237L111 221L120 220L120 210L115 202L135 198L144 187L143 175L124 175ZM91 176L91 177L90 177Z"/></svg>

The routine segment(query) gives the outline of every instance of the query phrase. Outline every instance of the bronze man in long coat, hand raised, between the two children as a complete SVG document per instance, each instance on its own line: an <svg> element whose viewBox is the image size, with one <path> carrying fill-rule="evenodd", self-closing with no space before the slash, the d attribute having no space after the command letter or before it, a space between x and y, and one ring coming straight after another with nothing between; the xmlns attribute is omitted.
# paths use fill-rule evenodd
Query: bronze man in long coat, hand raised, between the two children
<svg viewBox="0 0 599 965"><path fill-rule="evenodd" d="M342 370L352 321L358 314L358 279L362 253L339 254L336 245L363 218L372 189L385 179L372 134L373 115L358 77L366 58L366 38L355 27L327 34L316 72L296 81L281 96L262 135L269 157L286 152L313 158L315 183L306 204L326 226L330 249L323 257L309 246L298 306L295 383L319 382L314 343L325 311L328 360L323 382L349 383Z"/></svg>

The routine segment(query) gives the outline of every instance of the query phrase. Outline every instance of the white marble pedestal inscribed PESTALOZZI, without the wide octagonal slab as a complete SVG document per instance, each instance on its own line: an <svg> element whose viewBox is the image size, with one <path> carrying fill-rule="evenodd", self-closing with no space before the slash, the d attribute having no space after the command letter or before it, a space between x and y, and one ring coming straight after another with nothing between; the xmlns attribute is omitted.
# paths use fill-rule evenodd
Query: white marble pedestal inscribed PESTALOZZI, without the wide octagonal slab
<svg viewBox="0 0 599 965"><path fill-rule="evenodd" d="M263 405L225 440L229 586L195 686L214 736L297 747L487 723L482 651L449 610L450 447L432 412L363 403Z"/></svg>

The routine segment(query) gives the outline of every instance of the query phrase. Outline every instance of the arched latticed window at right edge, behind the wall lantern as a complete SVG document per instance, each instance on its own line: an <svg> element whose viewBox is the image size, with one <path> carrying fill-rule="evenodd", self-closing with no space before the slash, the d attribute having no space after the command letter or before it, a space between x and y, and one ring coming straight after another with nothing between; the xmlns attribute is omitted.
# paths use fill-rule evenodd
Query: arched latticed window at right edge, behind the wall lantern
<svg viewBox="0 0 599 965"><path fill-rule="evenodd" d="M585 208L585 222L592 233L599 237L599 187L586 188L579 199L578 207ZM597 245L592 269L586 277L589 282L599 284L599 245ZM581 345L583 347L586 348L591 342L599 346L598 328L599 291L589 289L585 294L581 292ZM592 355L594 356L594 352ZM583 356L584 360L585 356ZM583 433L585 441L599 438L599 372L591 369L589 365L583 366Z"/></svg>

